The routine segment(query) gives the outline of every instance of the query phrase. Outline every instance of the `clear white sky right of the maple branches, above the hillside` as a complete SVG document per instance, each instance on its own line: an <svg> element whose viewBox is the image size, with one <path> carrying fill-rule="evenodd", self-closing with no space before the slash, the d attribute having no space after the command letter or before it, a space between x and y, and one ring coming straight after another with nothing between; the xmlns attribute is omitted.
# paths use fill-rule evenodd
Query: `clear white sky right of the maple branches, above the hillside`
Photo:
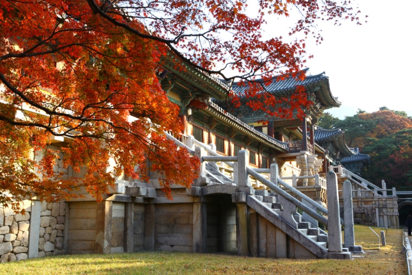
<svg viewBox="0 0 412 275"><path fill-rule="evenodd" d="M386 106L412 116L412 1L355 3L362 18L368 15L367 23L321 22L324 41L307 44L314 55L307 63L311 74L325 72L332 94L342 102L326 111L344 119L358 109L374 112Z"/></svg>

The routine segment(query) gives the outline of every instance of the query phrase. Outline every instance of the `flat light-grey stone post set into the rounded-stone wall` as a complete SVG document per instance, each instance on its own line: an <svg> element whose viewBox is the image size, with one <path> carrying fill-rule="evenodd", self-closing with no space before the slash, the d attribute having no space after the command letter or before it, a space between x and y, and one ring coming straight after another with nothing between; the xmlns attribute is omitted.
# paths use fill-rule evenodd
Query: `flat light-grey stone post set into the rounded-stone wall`
<svg viewBox="0 0 412 275"><path fill-rule="evenodd" d="M29 226L29 250L27 255L29 258L38 257L38 239L40 232L40 201L32 201L32 212L30 213L30 226ZM68 227L68 224L65 224Z"/></svg>

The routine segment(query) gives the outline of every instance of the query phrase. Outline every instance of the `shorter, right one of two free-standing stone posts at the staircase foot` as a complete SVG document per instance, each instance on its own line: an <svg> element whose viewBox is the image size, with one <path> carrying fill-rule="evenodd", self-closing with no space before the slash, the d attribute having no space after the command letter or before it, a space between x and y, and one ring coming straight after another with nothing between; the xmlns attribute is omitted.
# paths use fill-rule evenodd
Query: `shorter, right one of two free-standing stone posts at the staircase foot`
<svg viewBox="0 0 412 275"><path fill-rule="evenodd" d="M355 245L355 231L353 226L352 184L348 180L343 182L343 213L345 247L353 246Z"/></svg>

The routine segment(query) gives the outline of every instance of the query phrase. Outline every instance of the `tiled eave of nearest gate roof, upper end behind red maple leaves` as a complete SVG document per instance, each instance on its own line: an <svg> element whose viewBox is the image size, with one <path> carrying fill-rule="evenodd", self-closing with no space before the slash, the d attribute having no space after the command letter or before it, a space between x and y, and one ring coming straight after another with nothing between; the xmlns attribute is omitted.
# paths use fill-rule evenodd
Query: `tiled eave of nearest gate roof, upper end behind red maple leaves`
<svg viewBox="0 0 412 275"><path fill-rule="evenodd" d="M162 57L162 60L164 61L162 66L165 69L189 82L200 91L218 100L226 99L230 89L218 78L193 68L188 63L173 56L172 53Z"/></svg>

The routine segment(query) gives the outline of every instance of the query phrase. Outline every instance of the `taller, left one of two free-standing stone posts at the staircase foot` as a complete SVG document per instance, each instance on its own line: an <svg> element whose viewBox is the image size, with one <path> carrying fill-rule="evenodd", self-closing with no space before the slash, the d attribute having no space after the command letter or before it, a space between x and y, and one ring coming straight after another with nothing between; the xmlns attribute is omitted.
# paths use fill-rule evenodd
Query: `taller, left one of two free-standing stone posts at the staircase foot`
<svg viewBox="0 0 412 275"><path fill-rule="evenodd" d="M341 214L339 212L338 178L335 172L326 174L328 198L328 249L330 252L342 252Z"/></svg>

